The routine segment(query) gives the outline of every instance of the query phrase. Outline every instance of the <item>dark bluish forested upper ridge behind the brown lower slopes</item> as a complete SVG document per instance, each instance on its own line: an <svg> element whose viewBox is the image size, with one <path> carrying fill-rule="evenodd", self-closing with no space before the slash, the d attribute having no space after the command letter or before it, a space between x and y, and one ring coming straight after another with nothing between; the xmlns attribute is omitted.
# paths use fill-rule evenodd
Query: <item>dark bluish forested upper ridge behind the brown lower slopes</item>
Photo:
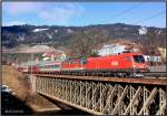
<svg viewBox="0 0 167 116"><path fill-rule="evenodd" d="M101 43L107 43L110 40L125 39L135 40L146 43L148 36L139 33L140 25L129 25L124 23L116 24L97 24L87 27L36 27L36 25L13 25L2 27L2 46L16 48L20 44L36 45L45 43L53 45L56 49L68 46L71 44L73 33L85 32ZM147 33L165 34L165 29L147 27ZM155 36L154 36L155 38ZM161 41L164 38L160 38ZM160 40L159 39L159 40ZM151 40L155 43L161 44L157 39Z"/></svg>

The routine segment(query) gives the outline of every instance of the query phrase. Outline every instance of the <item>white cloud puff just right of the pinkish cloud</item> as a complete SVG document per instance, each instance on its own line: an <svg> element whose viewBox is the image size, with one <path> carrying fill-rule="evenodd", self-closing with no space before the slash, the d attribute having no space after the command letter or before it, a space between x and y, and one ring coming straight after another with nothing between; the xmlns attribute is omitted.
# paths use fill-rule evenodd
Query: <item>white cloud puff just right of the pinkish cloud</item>
<svg viewBox="0 0 167 116"><path fill-rule="evenodd" d="M66 24L73 17L80 17L85 9L80 6L67 3L66 6L57 6L51 11L45 10L39 13L39 17L47 21Z"/></svg>

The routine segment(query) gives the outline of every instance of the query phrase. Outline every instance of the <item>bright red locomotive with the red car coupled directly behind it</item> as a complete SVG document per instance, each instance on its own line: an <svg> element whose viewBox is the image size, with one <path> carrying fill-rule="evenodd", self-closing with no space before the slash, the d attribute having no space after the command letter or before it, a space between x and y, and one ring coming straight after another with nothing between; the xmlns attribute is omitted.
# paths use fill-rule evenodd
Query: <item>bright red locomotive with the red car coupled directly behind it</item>
<svg viewBox="0 0 167 116"><path fill-rule="evenodd" d="M148 66L141 53L121 53L116 55L88 57L85 63L70 60L61 64L61 68L70 71L98 72L147 72Z"/></svg>

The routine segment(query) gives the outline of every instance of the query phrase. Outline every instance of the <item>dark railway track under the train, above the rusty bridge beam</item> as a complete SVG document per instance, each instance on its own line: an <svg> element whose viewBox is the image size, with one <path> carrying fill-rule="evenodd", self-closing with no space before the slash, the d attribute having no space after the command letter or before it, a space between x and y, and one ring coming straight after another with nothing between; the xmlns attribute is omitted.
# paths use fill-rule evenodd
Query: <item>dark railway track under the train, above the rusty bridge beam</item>
<svg viewBox="0 0 167 116"><path fill-rule="evenodd" d="M32 74L32 73L28 73ZM99 76L99 77L125 77L125 78L165 78L166 72L143 72L141 74L131 73L127 75L127 72L45 72L45 73L33 73L43 75L73 75L73 76Z"/></svg>

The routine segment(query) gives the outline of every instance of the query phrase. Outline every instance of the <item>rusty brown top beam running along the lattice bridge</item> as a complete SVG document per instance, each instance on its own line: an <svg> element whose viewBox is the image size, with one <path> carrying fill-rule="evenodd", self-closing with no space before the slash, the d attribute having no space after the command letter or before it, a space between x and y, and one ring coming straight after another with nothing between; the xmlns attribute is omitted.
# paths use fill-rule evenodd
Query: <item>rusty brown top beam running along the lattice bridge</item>
<svg viewBox="0 0 167 116"><path fill-rule="evenodd" d="M102 77L102 76L76 76L76 75L47 75L36 74L38 77L60 78L60 80L73 80L73 81L95 81L107 83L128 83L128 84L146 84L146 85L166 85L166 78L125 78L125 77Z"/></svg>

